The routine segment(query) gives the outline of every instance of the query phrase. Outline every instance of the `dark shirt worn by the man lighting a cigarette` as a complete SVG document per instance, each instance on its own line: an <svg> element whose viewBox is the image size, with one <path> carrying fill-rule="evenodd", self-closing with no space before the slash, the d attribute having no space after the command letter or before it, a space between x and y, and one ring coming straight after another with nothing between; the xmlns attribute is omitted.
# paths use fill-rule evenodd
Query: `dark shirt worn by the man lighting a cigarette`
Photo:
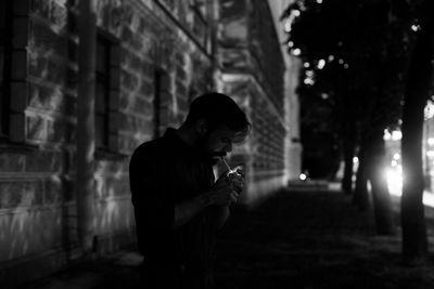
<svg viewBox="0 0 434 289"><path fill-rule="evenodd" d="M174 129L168 129L163 137L135 150L129 178L138 244L148 271L153 275L178 276L186 271L207 275L216 232L212 208L176 229L174 218L177 203L210 188L215 180L213 167Z"/></svg>

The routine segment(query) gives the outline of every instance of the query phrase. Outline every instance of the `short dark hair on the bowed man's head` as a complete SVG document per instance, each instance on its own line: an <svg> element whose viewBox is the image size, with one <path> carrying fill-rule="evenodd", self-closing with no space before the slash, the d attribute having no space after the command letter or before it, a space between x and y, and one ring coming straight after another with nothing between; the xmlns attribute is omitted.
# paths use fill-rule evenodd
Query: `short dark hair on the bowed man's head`
<svg viewBox="0 0 434 289"><path fill-rule="evenodd" d="M247 135L251 123L244 111L228 95L217 92L205 93L190 104L186 126L193 126L203 119L209 129L226 126L228 129Z"/></svg>

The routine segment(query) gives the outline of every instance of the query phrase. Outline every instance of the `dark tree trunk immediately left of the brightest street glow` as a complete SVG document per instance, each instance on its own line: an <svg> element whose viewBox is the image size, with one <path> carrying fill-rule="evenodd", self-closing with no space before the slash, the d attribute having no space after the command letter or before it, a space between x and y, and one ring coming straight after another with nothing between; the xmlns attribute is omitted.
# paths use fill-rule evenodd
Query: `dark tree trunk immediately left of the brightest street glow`
<svg viewBox="0 0 434 289"><path fill-rule="evenodd" d="M375 130L370 137L367 149L367 175L372 187L372 202L376 225L380 235L392 235L395 233L394 215L391 195L388 193L387 180L385 178L385 143L383 130Z"/></svg>

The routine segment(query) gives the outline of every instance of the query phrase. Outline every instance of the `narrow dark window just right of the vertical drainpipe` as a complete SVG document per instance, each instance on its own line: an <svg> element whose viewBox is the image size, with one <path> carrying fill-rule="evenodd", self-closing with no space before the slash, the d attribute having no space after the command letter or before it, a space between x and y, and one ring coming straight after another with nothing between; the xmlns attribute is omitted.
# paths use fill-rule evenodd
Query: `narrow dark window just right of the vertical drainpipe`
<svg viewBox="0 0 434 289"><path fill-rule="evenodd" d="M112 42L102 37L97 38L95 71L95 142L97 148L108 147L110 94L111 94L111 49Z"/></svg>

